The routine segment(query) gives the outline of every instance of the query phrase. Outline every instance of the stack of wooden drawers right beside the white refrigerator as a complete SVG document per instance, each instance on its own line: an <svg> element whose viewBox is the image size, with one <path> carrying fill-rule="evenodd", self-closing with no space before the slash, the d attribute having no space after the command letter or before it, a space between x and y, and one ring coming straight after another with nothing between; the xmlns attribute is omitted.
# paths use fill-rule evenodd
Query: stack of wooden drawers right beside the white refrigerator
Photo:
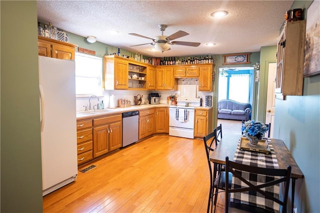
<svg viewBox="0 0 320 213"><path fill-rule="evenodd" d="M78 165L93 158L92 119L76 121L77 162Z"/></svg>

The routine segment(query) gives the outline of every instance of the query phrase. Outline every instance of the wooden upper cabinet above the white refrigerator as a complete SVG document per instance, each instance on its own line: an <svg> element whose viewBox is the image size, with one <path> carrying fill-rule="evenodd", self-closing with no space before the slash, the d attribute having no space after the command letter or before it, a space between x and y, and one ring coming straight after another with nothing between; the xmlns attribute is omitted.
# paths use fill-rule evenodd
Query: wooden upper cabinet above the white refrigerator
<svg viewBox="0 0 320 213"><path fill-rule="evenodd" d="M38 36L38 55L74 60L75 47L71 43Z"/></svg>

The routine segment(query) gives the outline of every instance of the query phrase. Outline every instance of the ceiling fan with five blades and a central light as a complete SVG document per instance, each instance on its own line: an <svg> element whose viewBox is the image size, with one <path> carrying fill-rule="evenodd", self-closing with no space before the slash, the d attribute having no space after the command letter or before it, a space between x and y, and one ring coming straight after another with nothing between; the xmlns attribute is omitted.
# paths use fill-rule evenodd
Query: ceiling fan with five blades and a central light
<svg viewBox="0 0 320 213"><path fill-rule="evenodd" d="M170 50L170 45L173 45L173 44L184 45L184 46L198 46L198 45L200 45L199 42L172 41L172 40L174 40L176 38L188 35L189 33L179 30L179 31L177 31L177 32L175 32L175 33L173 33L173 34L171 34L169 36L163 35L163 31L165 30L165 28L167 26L168 25L166 25L166 24L159 24L158 27L162 31L162 33L161 33L161 35L157 35L157 36L155 36L153 38L146 37L146 36L143 36L143 35L140 35L140 34L136 34L136 33L129 33L130 35L135 35L135 36L138 36L138 37L148 38L148 39L151 39L153 41L151 43L142 43L142 44L131 45L131 46L140 46L140 45L145 45L145 44L151 44L151 45L154 45L154 48L156 50L159 50L159 51L163 52L163 51L166 51L166 50Z"/></svg>

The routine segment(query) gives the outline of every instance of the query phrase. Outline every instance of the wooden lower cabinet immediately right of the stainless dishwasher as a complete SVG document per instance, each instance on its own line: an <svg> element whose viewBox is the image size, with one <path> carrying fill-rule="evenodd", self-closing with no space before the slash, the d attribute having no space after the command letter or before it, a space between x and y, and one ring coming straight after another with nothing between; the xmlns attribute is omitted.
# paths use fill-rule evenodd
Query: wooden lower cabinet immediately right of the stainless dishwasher
<svg viewBox="0 0 320 213"><path fill-rule="evenodd" d="M154 109L139 111L139 139L154 133Z"/></svg>

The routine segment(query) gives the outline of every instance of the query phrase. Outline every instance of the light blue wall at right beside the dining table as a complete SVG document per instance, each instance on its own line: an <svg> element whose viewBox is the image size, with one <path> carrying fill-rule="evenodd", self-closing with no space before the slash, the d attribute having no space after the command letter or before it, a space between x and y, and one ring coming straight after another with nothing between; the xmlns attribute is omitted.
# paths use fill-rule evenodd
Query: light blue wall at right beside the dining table
<svg viewBox="0 0 320 213"><path fill-rule="evenodd" d="M291 8L306 8L312 1L294 1ZM284 141L303 172L296 181L297 212L320 209L320 75L303 79L302 96L275 101L274 137ZM290 193L290 192L289 192Z"/></svg>

